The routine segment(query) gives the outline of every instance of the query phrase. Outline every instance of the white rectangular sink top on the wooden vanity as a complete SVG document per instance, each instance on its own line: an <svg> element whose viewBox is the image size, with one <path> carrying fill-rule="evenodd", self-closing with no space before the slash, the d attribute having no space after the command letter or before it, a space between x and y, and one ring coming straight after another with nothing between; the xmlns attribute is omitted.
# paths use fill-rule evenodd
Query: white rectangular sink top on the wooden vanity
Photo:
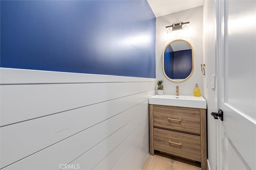
<svg viewBox="0 0 256 170"><path fill-rule="evenodd" d="M206 109L206 101L202 96L154 95L149 98L149 104Z"/></svg>

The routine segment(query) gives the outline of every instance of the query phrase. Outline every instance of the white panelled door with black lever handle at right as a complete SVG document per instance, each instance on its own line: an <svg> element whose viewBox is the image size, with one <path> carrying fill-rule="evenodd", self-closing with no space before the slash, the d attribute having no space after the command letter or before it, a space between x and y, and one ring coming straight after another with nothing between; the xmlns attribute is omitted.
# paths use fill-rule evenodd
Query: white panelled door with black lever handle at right
<svg viewBox="0 0 256 170"><path fill-rule="evenodd" d="M219 168L256 169L256 1L219 1ZM217 50L218 52L218 50ZM216 63L218 64L218 63ZM218 66L217 66L218 68Z"/></svg>

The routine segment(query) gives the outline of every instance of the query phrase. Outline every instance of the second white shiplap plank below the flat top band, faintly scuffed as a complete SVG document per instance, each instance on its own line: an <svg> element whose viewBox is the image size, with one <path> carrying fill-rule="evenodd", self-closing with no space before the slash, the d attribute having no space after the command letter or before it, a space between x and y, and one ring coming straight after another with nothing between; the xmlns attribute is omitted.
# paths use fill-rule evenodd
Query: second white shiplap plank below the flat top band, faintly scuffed
<svg viewBox="0 0 256 170"><path fill-rule="evenodd" d="M0 128L1 167L100 123L155 94L155 90Z"/></svg>

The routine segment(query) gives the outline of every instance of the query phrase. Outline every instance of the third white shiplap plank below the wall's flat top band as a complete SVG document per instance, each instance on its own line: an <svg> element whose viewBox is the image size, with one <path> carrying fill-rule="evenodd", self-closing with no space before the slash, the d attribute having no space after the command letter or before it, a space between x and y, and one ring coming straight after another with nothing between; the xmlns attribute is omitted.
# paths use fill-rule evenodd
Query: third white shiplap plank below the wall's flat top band
<svg viewBox="0 0 256 170"><path fill-rule="evenodd" d="M148 110L148 101L28 156L4 169L60 169L60 164L72 162L146 110Z"/></svg>

